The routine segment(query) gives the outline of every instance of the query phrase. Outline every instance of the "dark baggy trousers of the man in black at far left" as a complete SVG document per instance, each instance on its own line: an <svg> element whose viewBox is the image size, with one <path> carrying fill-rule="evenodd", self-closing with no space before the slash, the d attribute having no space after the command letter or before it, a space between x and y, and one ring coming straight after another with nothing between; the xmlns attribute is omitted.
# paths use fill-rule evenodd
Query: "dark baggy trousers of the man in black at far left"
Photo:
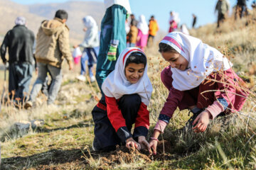
<svg viewBox="0 0 256 170"><path fill-rule="evenodd" d="M23 99L29 91L29 84L31 83L33 73L32 64L16 63L9 66L9 92L10 98ZM11 91L15 94L12 96Z"/></svg>

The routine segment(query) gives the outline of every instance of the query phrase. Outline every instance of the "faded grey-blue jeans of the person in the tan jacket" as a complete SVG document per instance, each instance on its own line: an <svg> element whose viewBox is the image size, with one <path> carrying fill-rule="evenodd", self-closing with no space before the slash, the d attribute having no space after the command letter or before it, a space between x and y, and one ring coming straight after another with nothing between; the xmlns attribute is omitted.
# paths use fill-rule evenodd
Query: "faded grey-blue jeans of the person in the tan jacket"
<svg viewBox="0 0 256 170"><path fill-rule="evenodd" d="M47 104L51 104L55 101L58 91L60 90L62 70L58 67L41 62L38 62L38 78L36 79L35 84L33 84L30 101L36 101L36 96L38 95L39 91L41 91L43 83L46 81L47 72L50 72L50 76L52 77Z"/></svg>

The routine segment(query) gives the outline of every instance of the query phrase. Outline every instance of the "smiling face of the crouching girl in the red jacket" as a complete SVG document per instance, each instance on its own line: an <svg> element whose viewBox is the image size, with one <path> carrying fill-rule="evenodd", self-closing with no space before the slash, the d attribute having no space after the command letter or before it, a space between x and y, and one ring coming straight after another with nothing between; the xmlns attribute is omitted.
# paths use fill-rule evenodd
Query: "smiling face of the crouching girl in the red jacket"
<svg viewBox="0 0 256 170"><path fill-rule="evenodd" d="M139 81L139 79L143 76L144 69L145 65L143 63L136 64L134 62L130 62L127 67L125 67L124 74L131 84L136 84L137 81Z"/></svg>

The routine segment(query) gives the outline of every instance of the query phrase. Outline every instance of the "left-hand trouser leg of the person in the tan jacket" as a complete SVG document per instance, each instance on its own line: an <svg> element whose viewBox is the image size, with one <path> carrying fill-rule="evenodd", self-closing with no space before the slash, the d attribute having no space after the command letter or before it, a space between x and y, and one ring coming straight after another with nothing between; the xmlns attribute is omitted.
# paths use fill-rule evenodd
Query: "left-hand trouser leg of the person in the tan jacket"
<svg viewBox="0 0 256 170"><path fill-rule="evenodd" d="M36 82L33 84L33 89L30 94L30 101L36 101L36 96L39 91L41 91L44 81L46 81L47 76L47 67L46 64L38 62L38 78Z"/></svg>

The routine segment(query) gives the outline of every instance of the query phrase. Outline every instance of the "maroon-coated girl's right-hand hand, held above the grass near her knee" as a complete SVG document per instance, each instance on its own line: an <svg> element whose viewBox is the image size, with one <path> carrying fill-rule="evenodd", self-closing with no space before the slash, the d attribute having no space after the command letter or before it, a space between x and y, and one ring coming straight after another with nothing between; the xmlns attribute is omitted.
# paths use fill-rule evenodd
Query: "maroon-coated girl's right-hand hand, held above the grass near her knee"
<svg viewBox="0 0 256 170"><path fill-rule="evenodd" d="M193 121L193 125L196 126L193 128L194 132L204 132L209 124L210 113L208 111L203 111L200 113L196 120Z"/></svg>

